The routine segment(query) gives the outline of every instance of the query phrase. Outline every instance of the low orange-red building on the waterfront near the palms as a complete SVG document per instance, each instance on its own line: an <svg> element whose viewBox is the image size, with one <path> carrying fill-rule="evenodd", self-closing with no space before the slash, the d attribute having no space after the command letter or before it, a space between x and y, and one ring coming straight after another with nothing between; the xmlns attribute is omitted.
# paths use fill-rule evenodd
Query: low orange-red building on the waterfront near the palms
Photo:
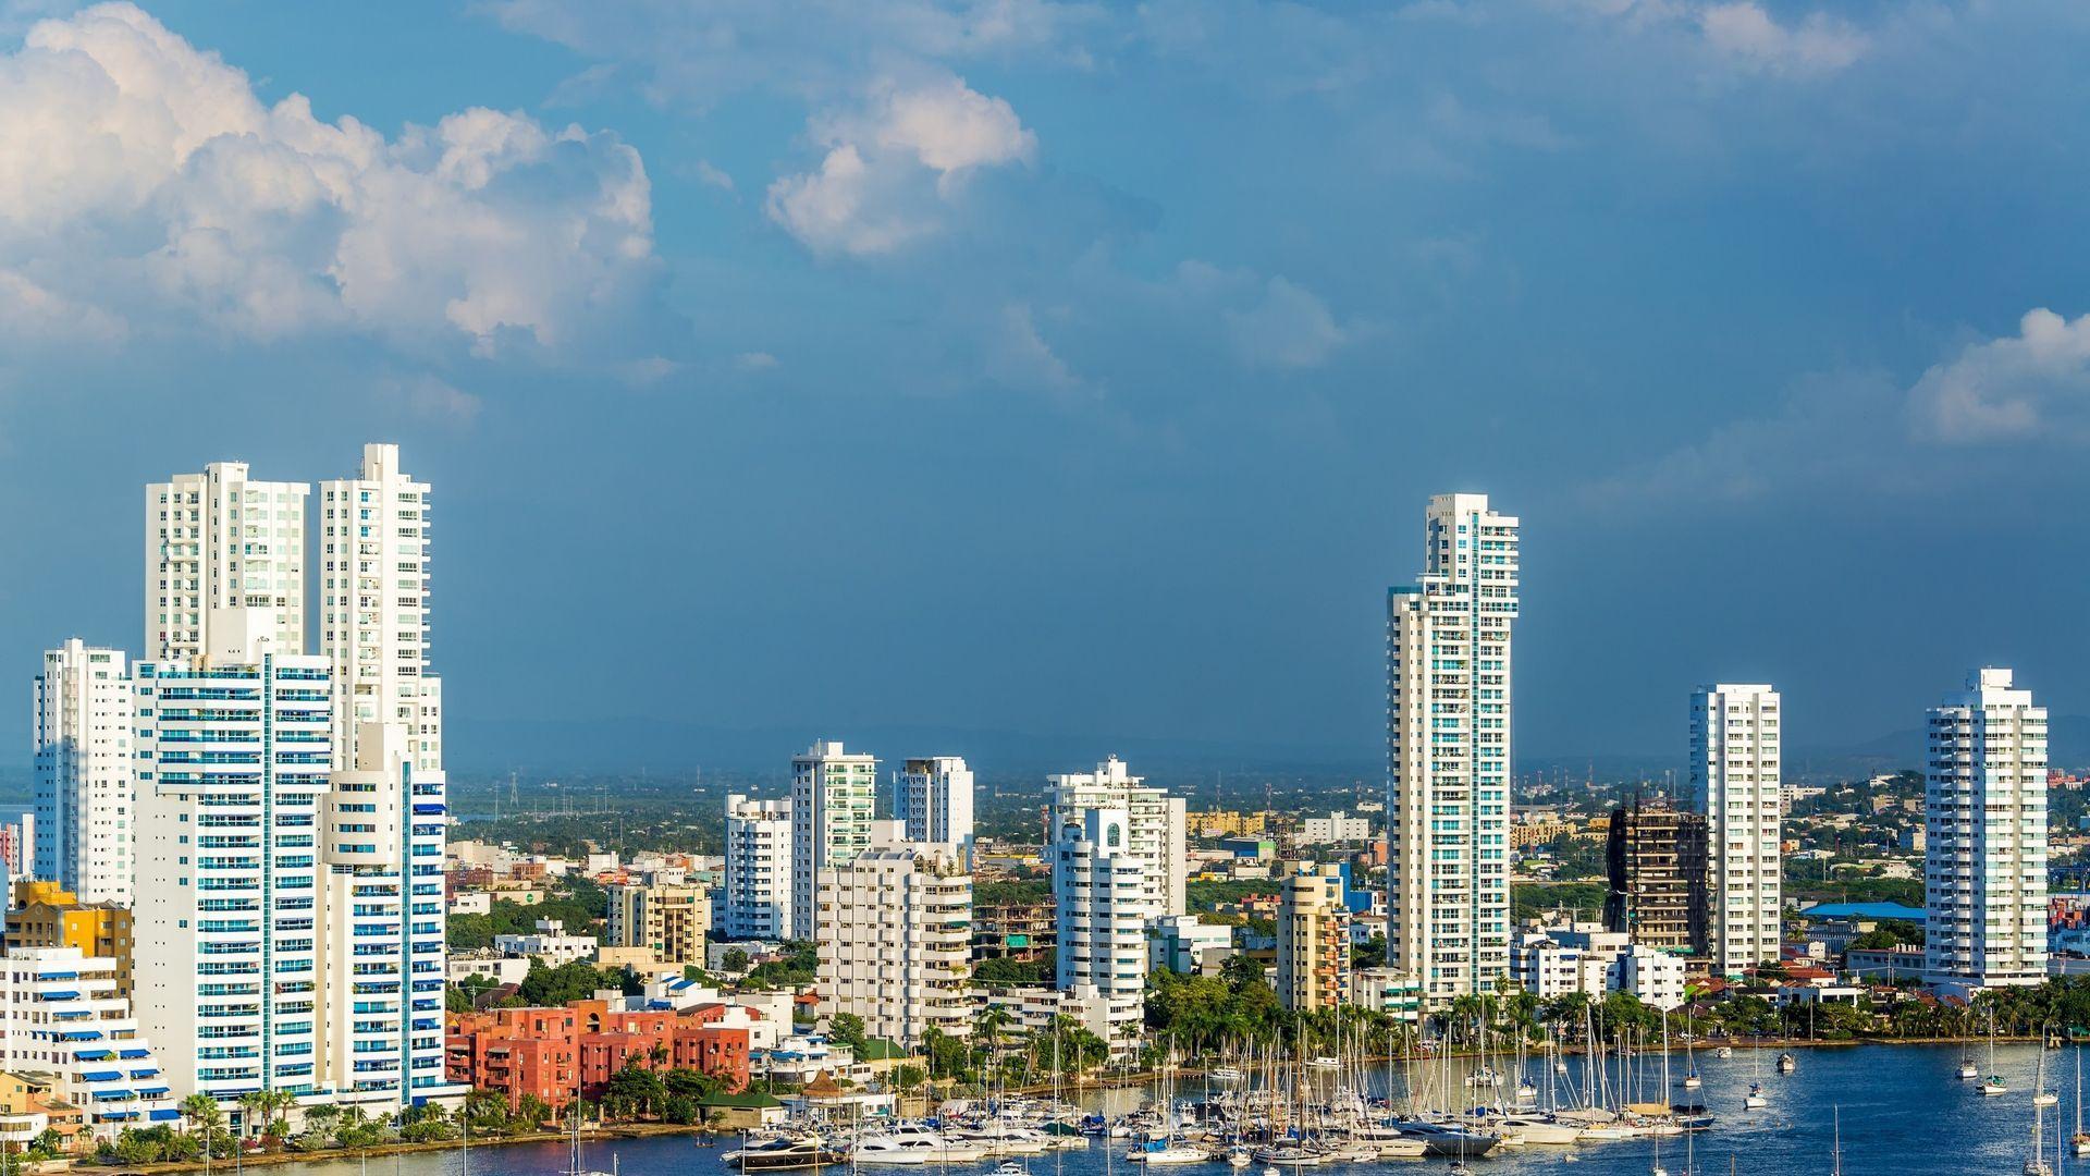
<svg viewBox="0 0 2090 1176"><path fill-rule="evenodd" d="M445 1073L449 1082L508 1094L510 1107L520 1107L525 1094L564 1107L575 1082L583 1096L598 1099L631 1061L646 1069L696 1069L740 1092L748 1086L748 1030L715 1025L725 1009L625 1013L602 1000L575 1000L564 1009L451 1013Z"/></svg>

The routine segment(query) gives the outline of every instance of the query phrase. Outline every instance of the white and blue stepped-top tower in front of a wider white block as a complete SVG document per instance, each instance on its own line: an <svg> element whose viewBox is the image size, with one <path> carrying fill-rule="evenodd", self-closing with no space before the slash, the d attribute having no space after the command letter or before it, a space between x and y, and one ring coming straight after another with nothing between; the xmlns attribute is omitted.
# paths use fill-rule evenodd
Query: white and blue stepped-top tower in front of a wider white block
<svg viewBox="0 0 2090 1176"><path fill-rule="evenodd" d="M1058 906L1060 990L1093 998L1112 1053L1139 1046L1147 986L1154 856L1133 845L1129 808L1083 808L1053 822L1051 891Z"/></svg>

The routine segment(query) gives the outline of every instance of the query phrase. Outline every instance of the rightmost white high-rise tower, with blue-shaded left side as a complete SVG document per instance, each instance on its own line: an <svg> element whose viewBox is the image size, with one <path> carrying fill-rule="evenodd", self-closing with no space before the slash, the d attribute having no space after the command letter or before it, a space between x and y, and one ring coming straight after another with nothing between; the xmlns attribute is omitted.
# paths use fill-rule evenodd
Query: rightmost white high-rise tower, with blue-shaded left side
<svg viewBox="0 0 2090 1176"><path fill-rule="evenodd" d="M1929 714L1925 983L2046 979L2046 707L2008 670L1975 670Z"/></svg>

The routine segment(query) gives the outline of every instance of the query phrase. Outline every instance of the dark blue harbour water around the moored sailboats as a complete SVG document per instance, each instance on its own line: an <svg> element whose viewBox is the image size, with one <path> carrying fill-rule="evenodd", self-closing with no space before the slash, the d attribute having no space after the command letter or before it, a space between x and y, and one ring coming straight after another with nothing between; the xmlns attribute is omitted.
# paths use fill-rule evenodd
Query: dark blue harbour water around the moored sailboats
<svg viewBox="0 0 2090 1176"><path fill-rule="evenodd" d="M1758 1057L1751 1061L1751 1053ZM1733 1059L1701 1055L1699 1073L1705 1080L1697 1094L1718 1115L1714 1130L1693 1140L1695 1174L1720 1176L1733 1172L1754 1176L1806 1176L1831 1170L1831 1107L1843 1120L1843 1172L1848 1176L2017 1176L2031 1143L2031 1086L2040 1048L2029 1044L1998 1046L1996 1071L2011 1092L1983 1099L1973 1082L1958 1082L1958 1046L1852 1046L1793 1050L1795 1073L1774 1073L1772 1050L1735 1050ZM1975 1065L1988 1071L1985 1046L1973 1048ZM2090 1057L2084 1059L2090 1065ZM1570 1059L1580 1076L1580 1059ZM2046 1053L2046 1082L2061 1090L2061 1105L2046 1111L2046 1161L2054 1163L2054 1130L2075 1126L2075 1050ZM1751 1073L1760 1076L1770 1107L1741 1111ZM1672 1057L1672 1076L1682 1076L1682 1055ZM1181 1096L1193 1096L1187 1088ZM1682 1094L1678 1090L1678 1094ZM1118 1092L1114 1101L1137 1101ZM1093 1103L1095 1099L1091 1099ZM698 1147L692 1136L656 1136L642 1140L591 1143L587 1166L608 1168L617 1155L623 1176L738 1176L719 1163L732 1143ZM1122 1140L1116 1143L1122 1157ZM1568 1157L1576 1159L1570 1161ZM949 1170L863 1168L872 1176L986 1176L993 1166ZM1020 1159L1022 1163L1022 1159ZM1411 1159L1363 1166L1329 1166L1329 1176L1396 1176L1400 1172L1440 1170L1442 1159ZM1570 1176L1647 1176L1653 1166L1653 1140L1590 1143L1574 1149L1528 1147L1499 1151L1473 1161L1476 1172L1524 1176L1563 1172ZM1685 1140L1662 1140L1662 1166L1672 1176L1685 1172ZM1104 1145L1087 1151L1064 1151L1028 1157L1032 1176L1106 1176ZM474 1147L470 1176L560 1176L566 1170L566 1145ZM364 1176L353 1159L295 1163L270 1168L280 1176ZM1164 1168L1170 1176L1227 1176L1218 1163ZM2090 1176L2090 1159L2063 1159L2059 1172ZM462 1176L456 1151L443 1155L403 1155L370 1159L368 1176ZM836 1174L840 1176L840 1174ZM1139 1176L1139 1168L1112 1159L1110 1176ZM1260 1176L1260 1168L1246 1170Z"/></svg>

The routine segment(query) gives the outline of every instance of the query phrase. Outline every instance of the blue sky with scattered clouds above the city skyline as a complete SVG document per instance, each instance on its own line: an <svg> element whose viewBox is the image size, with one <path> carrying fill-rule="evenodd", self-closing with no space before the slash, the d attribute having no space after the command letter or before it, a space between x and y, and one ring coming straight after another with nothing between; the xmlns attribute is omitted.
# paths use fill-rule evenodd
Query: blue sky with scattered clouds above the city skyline
<svg viewBox="0 0 2090 1176"><path fill-rule="evenodd" d="M2086 50L2040 0L0 0L0 663L138 647L142 483L385 439L454 732L1369 760L1450 490L1524 523L1522 755L1680 757L1708 680L1793 747L1977 663L2090 714Z"/></svg>

